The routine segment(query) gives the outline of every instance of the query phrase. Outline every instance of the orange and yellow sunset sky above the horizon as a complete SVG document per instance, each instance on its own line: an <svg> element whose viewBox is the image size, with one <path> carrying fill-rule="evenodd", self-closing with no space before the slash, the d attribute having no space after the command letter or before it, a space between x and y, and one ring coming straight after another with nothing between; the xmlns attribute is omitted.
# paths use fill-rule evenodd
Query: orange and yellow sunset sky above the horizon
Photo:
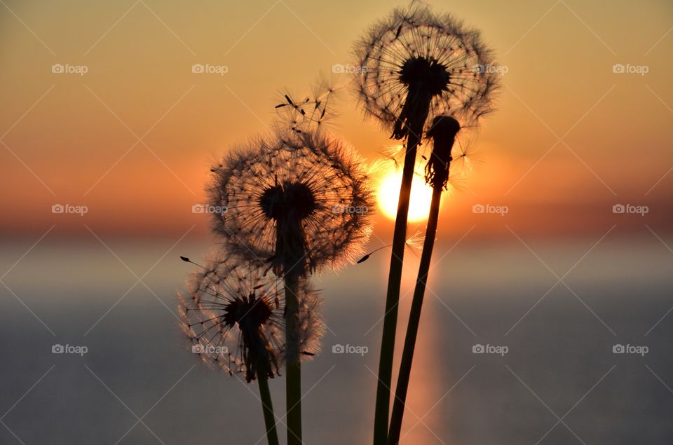
<svg viewBox="0 0 673 445"><path fill-rule="evenodd" d="M668 231L673 4L433 1L482 31L503 67L483 162L445 198L443 233ZM392 141L334 64L405 2L8 1L0 5L0 233L208 236L210 165L268 131L280 92L341 85L331 130L369 162ZM54 64L64 70L53 72ZM193 73L210 64L214 73ZM625 71L613 72L623 64ZM82 72L86 71L86 72ZM226 72L222 72L226 71ZM643 71L646 71L645 73ZM393 193L393 192L391 192ZM86 206L55 214L53 205ZM646 206L615 214L613 205ZM474 205L507 214L475 214ZM503 222L505 224L503 224ZM385 237L392 227L377 217Z"/></svg>

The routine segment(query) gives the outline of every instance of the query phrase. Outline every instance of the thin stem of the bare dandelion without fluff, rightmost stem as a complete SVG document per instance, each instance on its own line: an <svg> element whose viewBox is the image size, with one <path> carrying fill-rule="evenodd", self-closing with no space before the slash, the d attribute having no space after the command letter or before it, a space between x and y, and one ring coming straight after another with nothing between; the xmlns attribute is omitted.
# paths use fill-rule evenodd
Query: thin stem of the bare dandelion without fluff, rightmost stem
<svg viewBox="0 0 673 445"><path fill-rule="evenodd" d="M390 433L388 434L389 445L397 445L400 442L402 416L404 416L405 413L405 402L407 400L407 390L409 389L409 377L412 373L412 360L414 359L416 336L419 332L419 323L421 321L423 295L426 292L426 280L428 278L428 272L430 271L430 259L433 256L435 235L437 234L437 220L439 219L440 215L441 199L442 184L435 184L433 187L433 199L430 203L430 214L428 215L426 239L423 241L423 252L421 253L419 276L416 278L416 287L414 289L414 298L412 299L412 308L409 312L409 324L407 326L405 347L402 350L400 374L397 376L397 388L395 389L395 399L393 400L393 414L390 416Z"/></svg>

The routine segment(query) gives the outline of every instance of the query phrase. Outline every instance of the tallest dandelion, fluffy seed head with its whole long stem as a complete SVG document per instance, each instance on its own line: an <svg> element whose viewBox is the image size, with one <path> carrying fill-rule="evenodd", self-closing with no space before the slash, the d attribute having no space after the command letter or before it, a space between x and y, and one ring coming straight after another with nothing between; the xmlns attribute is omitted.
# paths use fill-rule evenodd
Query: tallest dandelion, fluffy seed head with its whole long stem
<svg viewBox="0 0 673 445"><path fill-rule="evenodd" d="M491 52L477 31L419 3L395 9L374 25L356 45L355 55L361 71L355 85L365 114L378 119L390 137L406 142L376 391L374 442L382 444L388 432L397 303L417 149L436 116L449 114L463 125L473 125L491 111L498 78L490 69Z"/></svg>

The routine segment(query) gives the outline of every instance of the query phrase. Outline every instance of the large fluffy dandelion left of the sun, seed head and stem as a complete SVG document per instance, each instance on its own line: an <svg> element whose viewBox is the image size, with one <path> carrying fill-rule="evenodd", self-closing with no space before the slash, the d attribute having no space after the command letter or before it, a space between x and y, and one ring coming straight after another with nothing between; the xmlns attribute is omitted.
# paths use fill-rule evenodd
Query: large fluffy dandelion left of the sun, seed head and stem
<svg viewBox="0 0 673 445"><path fill-rule="evenodd" d="M344 142L297 128L275 139L258 139L212 171L210 203L227 210L215 215L214 228L227 250L262 259L283 277L287 443L301 444L301 364L295 338L301 322L300 281L362 254L371 232L369 177Z"/></svg>

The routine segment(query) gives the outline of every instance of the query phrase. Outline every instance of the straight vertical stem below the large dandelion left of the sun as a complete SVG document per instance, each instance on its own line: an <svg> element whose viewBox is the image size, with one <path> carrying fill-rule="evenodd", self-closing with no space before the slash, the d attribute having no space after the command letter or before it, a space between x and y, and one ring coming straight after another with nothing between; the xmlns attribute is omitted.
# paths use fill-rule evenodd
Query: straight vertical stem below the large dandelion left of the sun
<svg viewBox="0 0 673 445"><path fill-rule="evenodd" d="M301 445L301 363L299 362L299 276L285 274L285 406L287 445Z"/></svg>

